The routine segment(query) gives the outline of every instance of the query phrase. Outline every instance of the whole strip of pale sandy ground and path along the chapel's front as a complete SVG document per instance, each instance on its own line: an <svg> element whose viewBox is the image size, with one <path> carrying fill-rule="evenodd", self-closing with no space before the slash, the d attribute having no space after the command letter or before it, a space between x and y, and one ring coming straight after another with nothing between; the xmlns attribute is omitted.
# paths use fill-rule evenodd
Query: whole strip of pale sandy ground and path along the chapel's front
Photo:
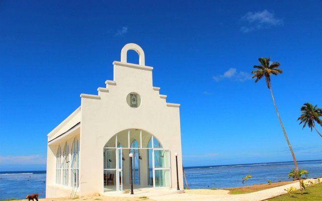
<svg viewBox="0 0 322 201"><path fill-rule="evenodd" d="M322 179L322 178L320 178ZM311 180L312 182L315 182L316 179L307 179ZM39 199L39 201L73 201L73 200L109 200L109 201L150 201L150 200L156 200L156 201L168 201L168 200L202 200L202 201L262 201L266 200L281 194L285 194L286 191L285 188L289 188L291 186L295 187L296 189L299 189L298 182L291 182L286 185L277 186L265 190L260 190L256 192L251 192L247 194L229 194L229 190L224 189L217 189L217 190L211 190L211 189L190 189L185 190L184 193L176 193L176 194L166 194L166 195L159 195L159 194L149 194L147 197L144 196L144 194L140 195L130 195L130 194L122 194L120 196L86 196L76 199L70 199L70 198L42 198ZM22 199L26 200L26 199Z"/></svg>

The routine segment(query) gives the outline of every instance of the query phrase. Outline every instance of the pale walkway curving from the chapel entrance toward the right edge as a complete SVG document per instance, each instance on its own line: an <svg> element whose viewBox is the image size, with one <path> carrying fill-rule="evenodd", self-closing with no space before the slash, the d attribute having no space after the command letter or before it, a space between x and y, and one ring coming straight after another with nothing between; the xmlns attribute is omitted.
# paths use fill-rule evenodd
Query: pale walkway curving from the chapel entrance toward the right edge
<svg viewBox="0 0 322 201"><path fill-rule="evenodd" d="M315 182L316 179L306 179L305 182L311 180ZM287 193L284 189L289 187L295 187L299 189L299 182L291 183L283 186L278 186L266 190L261 190L257 192L251 192L247 194L227 194L226 190L214 190L215 194L188 194L188 193L178 193L178 194L168 194L168 195L157 195L157 196L149 196L149 198L156 200L156 201L163 201L163 200L202 200L202 201L262 201L272 197L276 197L281 194Z"/></svg>

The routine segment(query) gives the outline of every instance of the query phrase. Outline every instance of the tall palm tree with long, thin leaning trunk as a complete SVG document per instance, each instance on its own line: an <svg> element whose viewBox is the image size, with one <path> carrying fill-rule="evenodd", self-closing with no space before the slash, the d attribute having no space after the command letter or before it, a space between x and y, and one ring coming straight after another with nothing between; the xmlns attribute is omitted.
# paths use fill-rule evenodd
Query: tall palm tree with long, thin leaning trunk
<svg viewBox="0 0 322 201"><path fill-rule="evenodd" d="M290 151L291 151L291 154L292 154L292 157L293 157L293 160L294 160L295 169L298 170L297 162L296 162L296 159L295 159L295 155L294 155L292 146L291 146L291 144L290 144L290 142L288 140L288 137L286 135L286 132L285 132L284 126L282 124L282 120L280 118L280 115L278 113L278 110L277 110L277 107L276 107L276 104L275 104L275 99L274 99L273 91L272 91L272 86L271 86L271 74L278 75L278 74L282 73L283 71L278 68L278 66L280 65L279 62L272 62L272 63L270 63L270 60L271 60L271 57L268 57L268 58L264 58L264 57L259 58L258 61L260 62L261 65L255 65L254 66L254 68L256 68L258 70L253 70L252 71L252 73L254 73L254 75L253 75L252 78L255 78L256 77L256 80L255 80L255 83L256 83L256 82L258 82L260 79L262 79L265 76L265 80L266 80L267 87L271 91L271 95L272 95L272 99L273 99L273 104L274 104L274 107L275 107L275 110L276 110L276 113L277 113L278 120L280 121L280 124L281 124L282 130L283 130L283 133L284 133L286 142L288 144L288 147L290 148Z"/></svg>

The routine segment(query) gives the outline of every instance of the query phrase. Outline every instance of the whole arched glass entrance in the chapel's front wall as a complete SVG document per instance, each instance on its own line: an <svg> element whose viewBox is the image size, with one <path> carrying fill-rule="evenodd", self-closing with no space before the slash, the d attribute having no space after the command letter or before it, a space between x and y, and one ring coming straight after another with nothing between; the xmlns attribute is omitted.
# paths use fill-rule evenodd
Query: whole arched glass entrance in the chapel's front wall
<svg viewBox="0 0 322 201"><path fill-rule="evenodd" d="M134 189L171 186L170 151L149 132L123 130L110 138L103 149L104 192L130 189L131 182Z"/></svg>

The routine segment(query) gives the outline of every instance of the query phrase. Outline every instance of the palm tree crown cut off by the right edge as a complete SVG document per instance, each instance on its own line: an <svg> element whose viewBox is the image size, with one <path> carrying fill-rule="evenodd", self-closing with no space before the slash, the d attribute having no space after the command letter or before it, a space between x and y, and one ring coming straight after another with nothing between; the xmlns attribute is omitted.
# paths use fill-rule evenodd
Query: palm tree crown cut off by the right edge
<svg viewBox="0 0 322 201"><path fill-rule="evenodd" d="M322 135L317 131L317 129L315 127L315 122L322 126L322 121L320 120L320 117L322 117L322 109L317 108L317 105L315 105L313 107L312 104L305 103L301 107L301 113L302 113L302 115L297 119L297 121L301 120L299 125L304 123L302 129L304 129L304 127L307 125L308 128L310 128L311 132L312 132L312 127L314 127L314 129L318 133L318 135L320 135L322 137Z"/></svg>

